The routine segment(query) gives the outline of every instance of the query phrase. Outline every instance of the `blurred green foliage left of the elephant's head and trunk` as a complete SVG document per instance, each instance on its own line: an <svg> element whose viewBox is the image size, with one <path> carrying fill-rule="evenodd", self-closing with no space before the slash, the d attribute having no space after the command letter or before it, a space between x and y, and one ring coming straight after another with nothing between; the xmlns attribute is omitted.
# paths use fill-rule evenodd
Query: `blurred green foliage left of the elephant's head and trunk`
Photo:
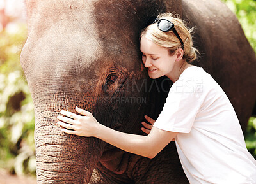
<svg viewBox="0 0 256 184"><path fill-rule="evenodd" d="M35 174L33 103L20 67L26 25L19 32L0 32L0 167L16 174Z"/></svg>

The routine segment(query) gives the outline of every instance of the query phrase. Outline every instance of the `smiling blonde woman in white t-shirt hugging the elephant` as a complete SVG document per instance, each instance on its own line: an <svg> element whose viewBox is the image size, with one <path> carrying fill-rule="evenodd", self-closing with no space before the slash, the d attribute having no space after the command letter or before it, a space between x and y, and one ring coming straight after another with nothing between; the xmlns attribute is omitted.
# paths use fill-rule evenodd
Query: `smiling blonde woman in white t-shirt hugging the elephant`
<svg viewBox="0 0 256 184"><path fill-rule="evenodd" d="M142 61L148 75L165 75L173 81L156 122L146 116L154 124L152 129L143 122L147 136L105 127L90 112L77 107L83 116L61 111L66 117L58 116L58 124L67 134L94 136L149 158L175 138L190 183L256 183L256 161L246 149L232 104L204 69L189 64L197 52L191 31L180 18L165 13L141 32Z"/></svg>

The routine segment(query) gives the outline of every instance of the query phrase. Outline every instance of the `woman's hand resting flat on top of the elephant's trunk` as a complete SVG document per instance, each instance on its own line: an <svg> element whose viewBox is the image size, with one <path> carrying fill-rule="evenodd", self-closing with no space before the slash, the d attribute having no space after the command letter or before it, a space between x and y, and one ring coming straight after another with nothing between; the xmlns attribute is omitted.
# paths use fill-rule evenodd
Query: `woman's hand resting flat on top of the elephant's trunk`
<svg viewBox="0 0 256 184"><path fill-rule="evenodd" d="M67 134L74 134L77 136L95 137L99 132L99 122L93 117L92 113L77 108L76 111L81 115L76 115L69 111L60 111L63 116L58 116L58 124L63 128L61 131Z"/></svg>

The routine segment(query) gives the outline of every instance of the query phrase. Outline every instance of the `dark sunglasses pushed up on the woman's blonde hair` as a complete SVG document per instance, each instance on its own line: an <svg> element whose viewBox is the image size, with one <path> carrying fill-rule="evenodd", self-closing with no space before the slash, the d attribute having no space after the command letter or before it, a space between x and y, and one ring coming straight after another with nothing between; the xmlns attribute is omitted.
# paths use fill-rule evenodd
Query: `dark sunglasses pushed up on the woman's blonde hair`
<svg viewBox="0 0 256 184"><path fill-rule="evenodd" d="M154 24L156 22L157 22L158 29L160 29L161 31L163 31L163 32L173 31L173 33L175 34L175 36L177 36L177 38L179 39L179 41L181 43L181 48L184 49L184 43L183 43L182 39L180 38L178 32L174 28L174 24L171 21L163 19L163 18L159 19L154 16L154 17L150 17L148 19L148 22L145 27L148 27L148 25Z"/></svg>

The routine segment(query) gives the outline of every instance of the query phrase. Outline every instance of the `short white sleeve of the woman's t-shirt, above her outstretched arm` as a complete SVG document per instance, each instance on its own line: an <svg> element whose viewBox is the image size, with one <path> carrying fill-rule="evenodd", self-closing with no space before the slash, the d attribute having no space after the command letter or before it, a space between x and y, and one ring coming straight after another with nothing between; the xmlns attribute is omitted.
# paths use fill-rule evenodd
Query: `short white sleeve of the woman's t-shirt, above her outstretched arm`
<svg viewBox="0 0 256 184"><path fill-rule="evenodd" d="M198 81L175 82L154 127L164 131L189 133L202 105L201 101L202 85L198 85Z"/></svg>

